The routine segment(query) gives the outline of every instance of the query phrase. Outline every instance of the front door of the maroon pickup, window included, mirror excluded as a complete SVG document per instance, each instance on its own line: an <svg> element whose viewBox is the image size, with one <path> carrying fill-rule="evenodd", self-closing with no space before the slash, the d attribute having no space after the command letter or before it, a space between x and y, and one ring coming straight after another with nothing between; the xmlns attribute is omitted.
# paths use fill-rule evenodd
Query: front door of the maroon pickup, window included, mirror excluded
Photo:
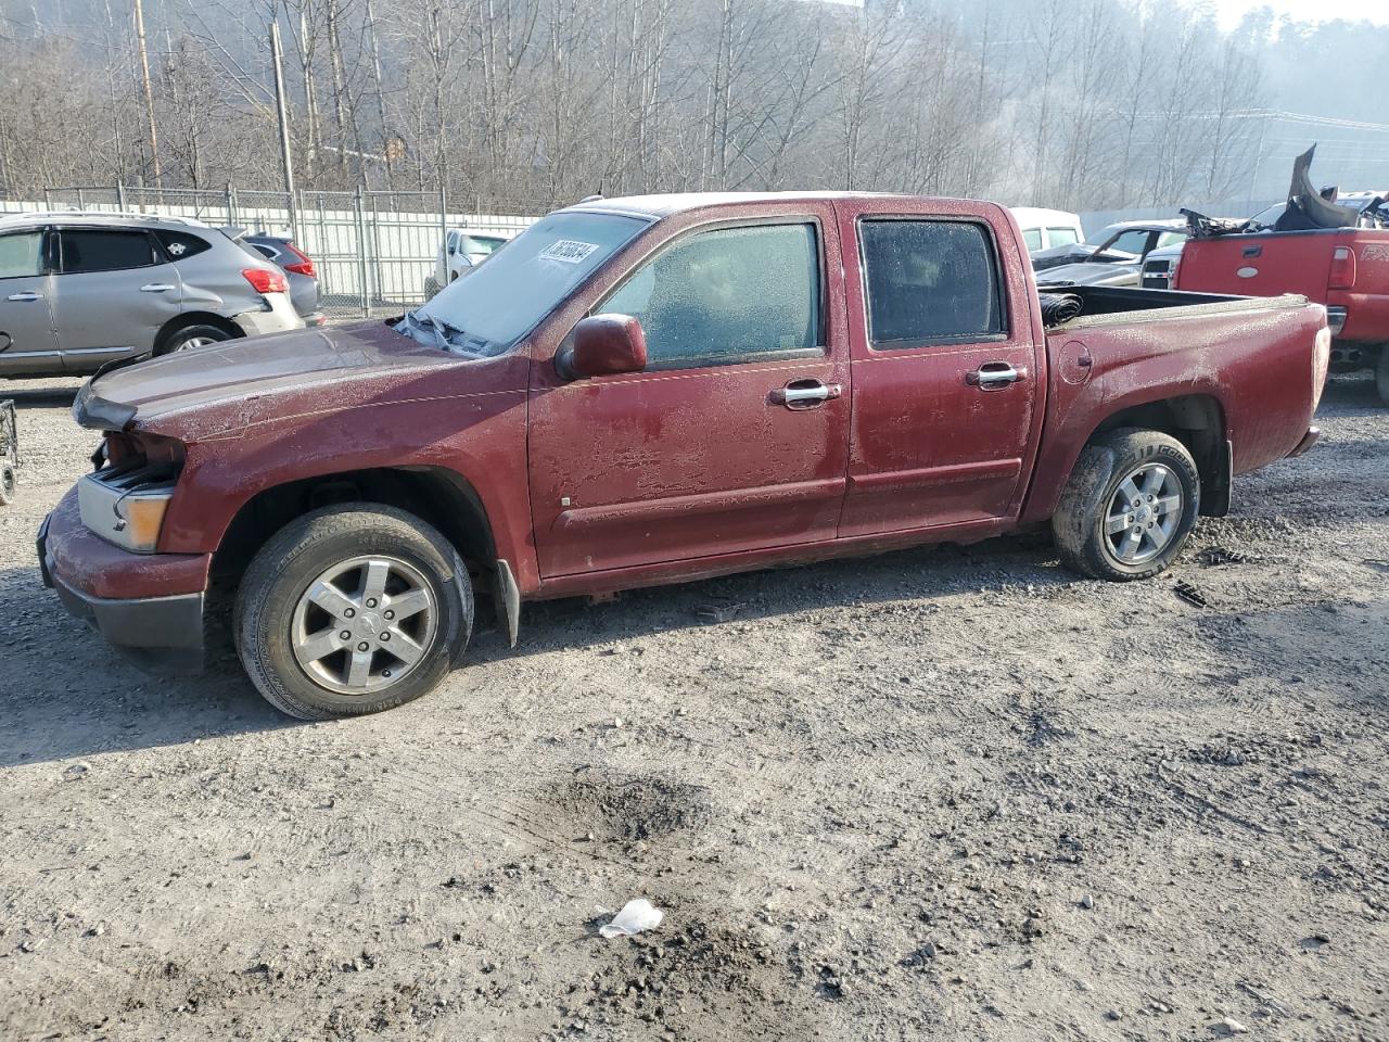
<svg viewBox="0 0 1389 1042"><path fill-rule="evenodd" d="M679 233L593 308L640 321L647 368L558 383L544 361L532 378L542 578L835 538L849 438L843 311L826 307L839 278L822 207Z"/></svg>

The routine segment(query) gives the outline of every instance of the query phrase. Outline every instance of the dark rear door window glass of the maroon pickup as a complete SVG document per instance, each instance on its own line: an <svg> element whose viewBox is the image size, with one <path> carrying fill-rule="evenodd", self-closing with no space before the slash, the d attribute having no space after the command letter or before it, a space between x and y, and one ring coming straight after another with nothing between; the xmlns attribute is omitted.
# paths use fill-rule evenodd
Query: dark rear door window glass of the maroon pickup
<svg viewBox="0 0 1389 1042"><path fill-rule="evenodd" d="M972 221L870 220L858 226L876 349L1003 340L989 229Z"/></svg>

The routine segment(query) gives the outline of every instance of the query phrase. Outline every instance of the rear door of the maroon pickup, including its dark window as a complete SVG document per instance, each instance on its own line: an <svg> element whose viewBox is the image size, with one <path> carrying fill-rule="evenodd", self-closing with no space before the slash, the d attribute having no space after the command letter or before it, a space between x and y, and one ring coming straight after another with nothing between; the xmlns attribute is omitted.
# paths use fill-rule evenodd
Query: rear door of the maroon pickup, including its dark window
<svg viewBox="0 0 1389 1042"><path fill-rule="evenodd" d="M853 428L839 535L1011 518L1040 427L1046 350L1026 258L989 204L860 206L840 206L858 263L846 265Z"/></svg>

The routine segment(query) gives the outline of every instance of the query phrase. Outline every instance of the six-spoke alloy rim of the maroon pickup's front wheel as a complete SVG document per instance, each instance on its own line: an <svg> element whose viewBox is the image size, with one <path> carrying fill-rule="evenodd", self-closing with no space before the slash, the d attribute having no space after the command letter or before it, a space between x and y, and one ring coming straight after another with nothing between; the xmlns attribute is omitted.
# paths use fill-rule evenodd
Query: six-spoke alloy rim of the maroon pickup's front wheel
<svg viewBox="0 0 1389 1042"><path fill-rule="evenodd" d="M339 695L372 695L424 661L439 627L439 597L424 572L385 554L325 568L290 620L294 660L314 684Z"/></svg>

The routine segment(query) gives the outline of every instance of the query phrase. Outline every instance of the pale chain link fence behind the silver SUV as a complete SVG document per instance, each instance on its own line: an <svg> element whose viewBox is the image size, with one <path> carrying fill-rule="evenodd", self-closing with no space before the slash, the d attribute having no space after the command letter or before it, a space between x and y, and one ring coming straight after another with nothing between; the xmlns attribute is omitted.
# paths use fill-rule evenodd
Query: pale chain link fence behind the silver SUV
<svg viewBox="0 0 1389 1042"><path fill-rule="evenodd" d="M507 204L510 213L450 213L439 192L156 189L131 185L46 189L42 200L0 200L0 213L96 210L188 217L250 233L288 235L318 271L325 314L335 318L396 314L415 307L442 271L449 229L513 236L551 207ZM519 213L517 213L519 211Z"/></svg>

